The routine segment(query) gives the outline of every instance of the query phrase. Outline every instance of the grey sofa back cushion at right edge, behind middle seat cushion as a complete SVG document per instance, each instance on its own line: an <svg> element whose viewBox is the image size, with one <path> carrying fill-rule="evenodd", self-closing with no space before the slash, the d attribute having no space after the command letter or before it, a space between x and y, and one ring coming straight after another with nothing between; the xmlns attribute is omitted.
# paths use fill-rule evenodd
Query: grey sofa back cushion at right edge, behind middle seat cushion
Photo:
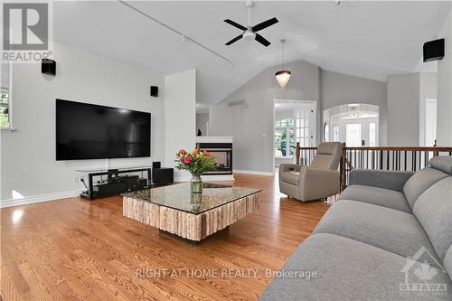
<svg viewBox="0 0 452 301"><path fill-rule="evenodd" d="M427 232L438 258L444 260L452 244L452 176L422 193L414 204L413 213Z"/></svg>

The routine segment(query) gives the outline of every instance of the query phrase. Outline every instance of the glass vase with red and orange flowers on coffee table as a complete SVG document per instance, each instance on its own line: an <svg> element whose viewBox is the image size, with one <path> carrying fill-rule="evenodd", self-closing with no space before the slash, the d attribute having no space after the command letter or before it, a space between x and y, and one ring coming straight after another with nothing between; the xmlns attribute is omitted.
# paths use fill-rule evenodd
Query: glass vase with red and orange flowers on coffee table
<svg viewBox="0 0 452 301"><path fill-rule="evenodd" d="M202 193L201 174L216 170L215 157L212 153L201 151L198 147L194 148L192 153L181 149L175 155L175 168L190 172L192 174L190 181L192 193Z"/></svg>

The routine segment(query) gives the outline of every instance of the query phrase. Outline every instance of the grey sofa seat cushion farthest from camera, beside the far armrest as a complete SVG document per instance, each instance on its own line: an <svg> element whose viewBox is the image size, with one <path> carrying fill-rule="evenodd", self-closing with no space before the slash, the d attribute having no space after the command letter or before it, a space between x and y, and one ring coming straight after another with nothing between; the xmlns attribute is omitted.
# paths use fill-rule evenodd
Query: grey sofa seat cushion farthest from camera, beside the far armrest
<svg viewBox="0 0 452 301"><path fill-rule="evenodd" d="M344 192L339 195L338 200L368 202L374 205L400 210L401 212L411 212L410 206L403 193L378 187L363 185L348 186Z"/></svg>

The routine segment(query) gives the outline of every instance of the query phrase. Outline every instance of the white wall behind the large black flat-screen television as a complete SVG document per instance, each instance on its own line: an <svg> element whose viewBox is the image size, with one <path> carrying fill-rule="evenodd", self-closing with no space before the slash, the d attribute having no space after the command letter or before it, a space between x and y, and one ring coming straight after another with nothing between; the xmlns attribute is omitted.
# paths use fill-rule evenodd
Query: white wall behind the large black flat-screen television
<svg viewBox="0 0 452 301"><path fill-rule="evenodd" d="M112 159L109 165L150 165L164 159L164 93L158 99L149 96L150 85L163 87L163 76L57 42L53 55L56 77L42 74L40 64L13 67L17 130L1 134L3 201L11 199L13 191L24 195L22 202L71 196L82 188L74 183L79 175L75 169L107 167L108 160L55 161L56 98L150 112L151 157Z"/></svg>

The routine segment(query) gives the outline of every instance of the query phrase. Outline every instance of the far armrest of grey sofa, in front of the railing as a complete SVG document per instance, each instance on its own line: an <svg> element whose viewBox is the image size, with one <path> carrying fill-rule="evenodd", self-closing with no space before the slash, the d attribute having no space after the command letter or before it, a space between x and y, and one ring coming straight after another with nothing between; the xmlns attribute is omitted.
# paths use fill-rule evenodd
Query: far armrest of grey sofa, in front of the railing
<svg viewBox="0 0 452 301"><path fill-rule="evenodd" d="M414 172L393 172L374 169L353 169L350 185L373 186L402 192L403 185Z"/></svg>

